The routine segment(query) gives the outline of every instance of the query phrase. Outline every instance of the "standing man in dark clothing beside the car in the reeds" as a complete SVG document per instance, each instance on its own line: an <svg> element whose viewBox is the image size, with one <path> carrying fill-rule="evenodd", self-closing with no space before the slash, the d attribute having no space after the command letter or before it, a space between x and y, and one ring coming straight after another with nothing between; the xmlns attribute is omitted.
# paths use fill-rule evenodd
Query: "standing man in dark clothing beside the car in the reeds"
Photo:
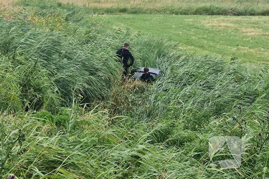
<svg viewBox="0 0 269 179"><path fill-rule="evenodd" d="M119 49L119 50L116 52L117 56L118 56L119 59L120 59L119 62L122 63L122 67L123 67L123 69L124 69L123 74L122 74L122 77L123 77L123 78L126 77L128 68L129 68L130 66L132 66L133 63L134 63L134 57L133 57L133 55L129 52L128 49L129 49L129 44L128 44L128 43L125 43L124 46L123 46L123 48L122 48L122 49ZM128 59L129 59L129 57L130 57L130 59L131 59L131 62L130 62L130 64L128 65Z"/></svg>

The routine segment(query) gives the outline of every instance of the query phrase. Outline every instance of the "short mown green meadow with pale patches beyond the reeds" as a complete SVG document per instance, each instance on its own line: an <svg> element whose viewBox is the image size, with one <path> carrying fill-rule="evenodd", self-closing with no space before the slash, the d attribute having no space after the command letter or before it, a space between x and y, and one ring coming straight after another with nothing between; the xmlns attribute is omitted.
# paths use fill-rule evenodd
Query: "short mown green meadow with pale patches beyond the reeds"
<svg viewBox="0 0 269 179"><path fill-rule="evenodd" d="M130 27L179 42L184 53L239 57L242 62L269 62L267 17L124 14L90 17L109 29Z"/></svg>

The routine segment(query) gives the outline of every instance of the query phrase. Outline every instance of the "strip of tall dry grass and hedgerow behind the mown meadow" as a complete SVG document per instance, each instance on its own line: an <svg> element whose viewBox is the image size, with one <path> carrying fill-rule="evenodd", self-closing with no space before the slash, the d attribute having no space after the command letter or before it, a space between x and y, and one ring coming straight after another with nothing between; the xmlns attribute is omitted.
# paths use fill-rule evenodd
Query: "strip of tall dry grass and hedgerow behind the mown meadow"
<svg viewBox="0 0 269 179"><path fill-rule="evenodd" d="M38 6L44 9L46 0L19 0L19 5ZM45 5L45 6L44 6ZM83 5L77 7L76 5ZM175 15L228 15L228 16L268 16L269 8L266 0L259 1L69 1L49 3L55 10L64 8L69 15L81 14L175 14ZM44 9L45 10L45 9Z"/></svg>

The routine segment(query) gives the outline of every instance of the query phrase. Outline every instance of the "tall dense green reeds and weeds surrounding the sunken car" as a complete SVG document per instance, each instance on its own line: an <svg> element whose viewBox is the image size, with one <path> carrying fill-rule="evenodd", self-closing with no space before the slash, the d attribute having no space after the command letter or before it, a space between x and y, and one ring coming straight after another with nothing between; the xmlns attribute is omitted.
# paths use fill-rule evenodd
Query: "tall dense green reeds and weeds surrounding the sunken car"
<svg viewBox="0 0 269 179"><path fill-rule="evenodd" d="M109 31L77 6L19 10L0 18L3 178L268 177L267 66L180 54L169 39ZM122 82L124 42L134 67L165 78ZM210 167L231 158L209 156L210 137L245 134L240 168Z"/></svg>

